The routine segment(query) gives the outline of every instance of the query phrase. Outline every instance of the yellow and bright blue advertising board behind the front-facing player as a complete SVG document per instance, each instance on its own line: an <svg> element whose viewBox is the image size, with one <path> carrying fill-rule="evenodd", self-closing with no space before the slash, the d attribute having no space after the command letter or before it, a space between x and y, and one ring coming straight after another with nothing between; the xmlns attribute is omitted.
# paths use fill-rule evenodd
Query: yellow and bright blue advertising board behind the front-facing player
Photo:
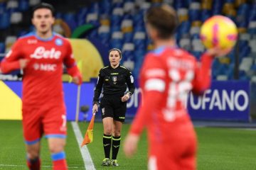
<svg viewBox="0 0 256 170"><path fill-rule="evenodd" d="M80 90L79 120L90 120L92 117L92 97L95 84L83 83ZM0 81L0 119L21 120L21 81ZM78 86L63 83L67 120L75 120ZM82 113L80 107L87 107Z"/></svg>

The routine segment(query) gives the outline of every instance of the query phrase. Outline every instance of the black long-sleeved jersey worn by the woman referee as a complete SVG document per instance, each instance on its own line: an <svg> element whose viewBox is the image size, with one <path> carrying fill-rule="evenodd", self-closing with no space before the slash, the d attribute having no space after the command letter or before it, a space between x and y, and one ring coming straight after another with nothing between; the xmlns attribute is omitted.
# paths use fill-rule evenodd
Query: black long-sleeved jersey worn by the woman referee
<svg viewBox="0 0 256 170"><path fill-rule="evenodd" d="M127 91L127 87L129 91ZM100 73L97 80L97 85L95 87L95 93L93 98L93 103L99 101L99 97L103 88L103 95L124 95L125 91L129 93L130 96L134 93L134 78L132 77L132 72L126 67L119 65L117 68L113 69L110 65L100 69Z"/></svg>

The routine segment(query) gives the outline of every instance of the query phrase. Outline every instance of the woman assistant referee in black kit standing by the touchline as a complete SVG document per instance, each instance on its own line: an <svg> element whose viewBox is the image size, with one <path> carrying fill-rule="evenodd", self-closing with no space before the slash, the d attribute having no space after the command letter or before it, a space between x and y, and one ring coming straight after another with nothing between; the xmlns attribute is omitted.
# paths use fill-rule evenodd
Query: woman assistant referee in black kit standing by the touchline
<svg viewBox="0 0 256 170"><path fill-rule="evenodd" d="M95 113L98 111L99 98L102 92L100 108L104 128L103 147L105 152L102 166L119 166L117 164L117 153L121 141L122 123L125 119L127 101L135 89L132 72L119 64L121 59L121 50L117 48L110 50L110 65L100 69L93 98L92 112ZM127 91L127 87L129 91ZM110 161L111 147L112 160Z"/></svg>

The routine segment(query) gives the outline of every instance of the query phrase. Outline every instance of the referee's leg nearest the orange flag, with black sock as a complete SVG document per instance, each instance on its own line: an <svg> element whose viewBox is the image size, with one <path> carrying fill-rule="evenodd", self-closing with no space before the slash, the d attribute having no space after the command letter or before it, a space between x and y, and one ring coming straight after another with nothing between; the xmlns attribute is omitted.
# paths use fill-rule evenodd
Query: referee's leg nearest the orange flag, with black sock
<svg viewBox="0 0 256 170"><path fill-rule="evenodd" d="M103 123L103 148L105 159L103 159L102 166L110 166L110 149L112 142L112 129L113 129L113 109L108 101L108 98L103 97L100 102L100 110L102 113Z"/></svg>

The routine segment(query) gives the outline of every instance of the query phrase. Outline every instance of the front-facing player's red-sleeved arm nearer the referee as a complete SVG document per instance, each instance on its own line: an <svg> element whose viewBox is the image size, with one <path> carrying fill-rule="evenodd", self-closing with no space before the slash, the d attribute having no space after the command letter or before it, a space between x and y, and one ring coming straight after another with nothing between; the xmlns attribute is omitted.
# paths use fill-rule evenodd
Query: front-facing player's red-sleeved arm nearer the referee
<svg viewBox="0 0 256 170"><path fill-rule="evenodd" d="M67 43L67 54L65 55L63 62L65 64L65 67L67 68L68 74L73 77L73 81L75 82L75 84L82 84L82 75L80 74L78 66L75 62L70 42Z"/></svg>

